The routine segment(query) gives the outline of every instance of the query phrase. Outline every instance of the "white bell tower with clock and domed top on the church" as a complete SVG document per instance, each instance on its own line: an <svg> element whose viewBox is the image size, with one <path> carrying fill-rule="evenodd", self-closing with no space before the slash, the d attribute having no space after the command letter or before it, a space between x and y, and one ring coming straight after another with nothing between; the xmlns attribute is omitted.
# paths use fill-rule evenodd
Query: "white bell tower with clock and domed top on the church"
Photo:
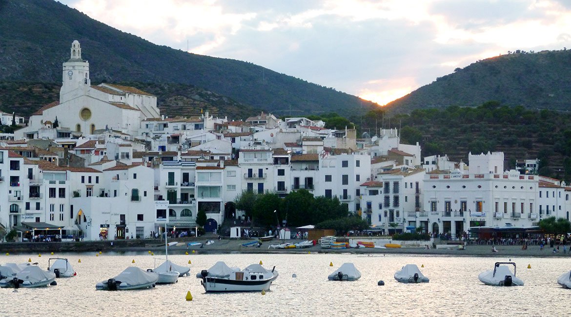
<svg viewBox="0 0 571 317"><path fill-rule="evenodd" d="M62 69L62 88L59 91L59 102L63 103L74 97L71 94L87 92L87 88L91 86L89 79L89 62L81 58L81 45L77 40L71 43L70 59L63 63Z"/></svg>

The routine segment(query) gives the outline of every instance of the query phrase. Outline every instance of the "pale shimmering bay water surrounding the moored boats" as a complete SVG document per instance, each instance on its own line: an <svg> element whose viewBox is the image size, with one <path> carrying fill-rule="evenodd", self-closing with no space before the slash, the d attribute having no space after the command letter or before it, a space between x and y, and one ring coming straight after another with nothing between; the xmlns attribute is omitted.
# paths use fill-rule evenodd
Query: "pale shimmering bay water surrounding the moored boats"
<svg viewBox="0 0 571 317"><path fill-rule="evenodd" d="M413 255L352 254L216 254L169 255L179 265L190 265L190 277L175 285L158 285L138 291L95 291L95 283L106 281L127 266L154 267L148 254L56 254L66 257L77 271L74 278L58 279L58 286L0 289L1 316L105 315L105 316L451 316L451 315L565 315L571 290L557 285L557 278L571 269L565 258L512 258L522 287L485 286L478 274L493 269L493 263L507 258L439 257ZM39 262L47 268L44 255L2 255L0 263ZM81 258L82 263L78 263ZM135 260L135 263L131 263ZM258 292L205 294L194 277L216 261L244 268L263 261L274 265L279 278L266 295ZM333 267L329 267L333 262ZM356 282L333 282L327 275L344 262L353 262L363 275ZM157 265L160 262L157 262ZM401 284L395 271L415 263L430 283ZM530 264L532 269L526 269ZM295 273L297 278L292 278ZM385 286L377 286L383 280ZM194 300L184 297L190 290Z"/></svg>

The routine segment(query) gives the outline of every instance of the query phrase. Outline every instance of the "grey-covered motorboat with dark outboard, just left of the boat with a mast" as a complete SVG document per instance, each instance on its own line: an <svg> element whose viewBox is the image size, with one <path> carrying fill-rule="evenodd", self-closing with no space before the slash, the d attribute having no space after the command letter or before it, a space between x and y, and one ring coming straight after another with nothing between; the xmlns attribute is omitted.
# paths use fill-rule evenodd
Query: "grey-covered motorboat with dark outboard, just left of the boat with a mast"
<svg viewBox="0 0 571 317"><path fill-rule="evenodd" d="M107 281L99 282L95 285L96 290L118 291L118 290L139 290L141 288L155 287L159 274L147 272L135 266L127 267L123 272Z"/></svg>

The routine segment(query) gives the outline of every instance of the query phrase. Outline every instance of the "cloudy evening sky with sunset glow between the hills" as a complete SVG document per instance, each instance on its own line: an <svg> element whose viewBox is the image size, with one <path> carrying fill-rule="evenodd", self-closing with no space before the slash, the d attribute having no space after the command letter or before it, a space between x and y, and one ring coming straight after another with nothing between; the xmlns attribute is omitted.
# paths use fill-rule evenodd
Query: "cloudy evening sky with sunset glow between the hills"
<svg viewBox="0 0 571 317"><path fill-rule="evenodd" d="M508 51L571 48L570 0L60 0L152 43L385 104Z"/></svg>

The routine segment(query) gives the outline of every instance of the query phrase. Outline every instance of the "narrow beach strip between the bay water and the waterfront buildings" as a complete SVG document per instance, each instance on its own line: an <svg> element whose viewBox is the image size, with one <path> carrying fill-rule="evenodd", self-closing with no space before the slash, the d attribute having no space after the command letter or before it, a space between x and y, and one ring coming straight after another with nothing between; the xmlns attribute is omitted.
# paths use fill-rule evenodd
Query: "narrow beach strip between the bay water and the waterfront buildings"
<svg viewBox="0 0 571 317"><path fill-rule="evenodd" d="M194 241L206 242L207 239L195 239ZM211 245L203 245L187 247L186 241L182 246L170 246L169 253L191 253L192 250L199 254L220 254L220 253L352 253L352 254L422 254L422 255L453 255L453 256L478 256L478 257L571 257L571 254L563 253L562 247L559 253L553 253L553 249L544 248L540 250L539 246L529 246L527 250L521 250L521 246L496 245L498 252L492 252L492 246L489 245L470 245L465 250L453 249L424 249L421 247L401 247L398 249L377 249L377 248L360 248L360 249L341 249L332 250L321 248L319 245L308 247L305 249L268 249L272 244L282 243L282 241L274 240L263 242L261 247L244 247L242 243L254 240L229 240L229 239L213 239ZM299 240L286 240L289 243L300 242ZM117 248L120 251L123 248ZM164 250L164 245L156 243L148 243L145 247L128 247L122 251L147 251L154 250L160 253Z"/></svg>

